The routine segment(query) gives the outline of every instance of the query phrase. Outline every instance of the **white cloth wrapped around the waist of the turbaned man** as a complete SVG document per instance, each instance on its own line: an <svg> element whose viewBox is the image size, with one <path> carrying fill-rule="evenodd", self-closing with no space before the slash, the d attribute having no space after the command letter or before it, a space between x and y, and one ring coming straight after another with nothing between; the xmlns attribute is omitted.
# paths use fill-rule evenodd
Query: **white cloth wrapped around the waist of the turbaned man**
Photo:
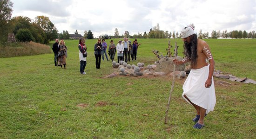
<svg viewBox="0 0 256 139"><path fill-rule="evenodd" d="M209 65L201 69L191 69L188 78L183 85L182 97L189 102L184 95L195 105L205 108L206 114L214 110L216 104L215 87L212 78L211 87L205 88L204 84L209 75ZM190 102L189 102L190 104Z"/></svg>

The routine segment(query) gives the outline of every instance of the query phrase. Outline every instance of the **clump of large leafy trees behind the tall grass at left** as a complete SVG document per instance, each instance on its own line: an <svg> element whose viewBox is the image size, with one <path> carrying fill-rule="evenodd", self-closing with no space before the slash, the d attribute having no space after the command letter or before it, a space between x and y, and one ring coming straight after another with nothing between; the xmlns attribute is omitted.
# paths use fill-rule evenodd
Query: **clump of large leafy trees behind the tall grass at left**
<svg viewBox="0 0 256 139"><path fill-rule="evenodd" d="M11 18L12 7L11 0L0 0L0 42L7 41L8 33L14 33L21 42L41 44L49 44L50 40L58 37L58 31L48 17L37 16L34 20L22 16Z"/></svg>

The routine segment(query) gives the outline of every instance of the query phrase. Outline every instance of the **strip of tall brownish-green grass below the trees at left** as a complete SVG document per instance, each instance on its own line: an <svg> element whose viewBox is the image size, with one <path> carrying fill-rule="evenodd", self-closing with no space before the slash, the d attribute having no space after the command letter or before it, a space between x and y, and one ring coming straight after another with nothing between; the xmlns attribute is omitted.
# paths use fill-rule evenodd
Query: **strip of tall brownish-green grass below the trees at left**
<svg viewBox="0 0 256 139"><path fill-rule="evenodd" d="M51 53L48 45L34 42L0 44L0 57L31 56Z"/></svg>

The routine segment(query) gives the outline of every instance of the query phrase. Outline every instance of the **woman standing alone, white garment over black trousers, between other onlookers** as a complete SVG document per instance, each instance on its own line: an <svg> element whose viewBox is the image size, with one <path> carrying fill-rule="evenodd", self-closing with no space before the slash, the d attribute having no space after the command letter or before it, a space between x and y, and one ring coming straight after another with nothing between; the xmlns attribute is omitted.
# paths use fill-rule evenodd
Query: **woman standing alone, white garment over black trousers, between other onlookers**
<svg viewBox="0 0 256 139"><path fill-rule="evenodd" d="M79 61L80 61L80 74L86 74L84 72L86 66L87 48L84 44L85 40L83 38L79 39L78 49L79 49Z"/></svg>

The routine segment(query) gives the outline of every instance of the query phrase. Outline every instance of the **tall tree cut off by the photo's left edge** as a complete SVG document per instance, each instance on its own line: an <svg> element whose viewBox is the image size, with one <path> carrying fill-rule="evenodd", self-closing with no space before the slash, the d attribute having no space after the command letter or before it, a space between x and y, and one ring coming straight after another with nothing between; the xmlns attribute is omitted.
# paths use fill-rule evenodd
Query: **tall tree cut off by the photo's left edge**
<svg viewBox="0 0 256 139"><path fill-rule="evenodd" d="M0 41L7 40L7 35L10 33L8 21L12 17L13 2L11 0L0 0Z"/></svg>

